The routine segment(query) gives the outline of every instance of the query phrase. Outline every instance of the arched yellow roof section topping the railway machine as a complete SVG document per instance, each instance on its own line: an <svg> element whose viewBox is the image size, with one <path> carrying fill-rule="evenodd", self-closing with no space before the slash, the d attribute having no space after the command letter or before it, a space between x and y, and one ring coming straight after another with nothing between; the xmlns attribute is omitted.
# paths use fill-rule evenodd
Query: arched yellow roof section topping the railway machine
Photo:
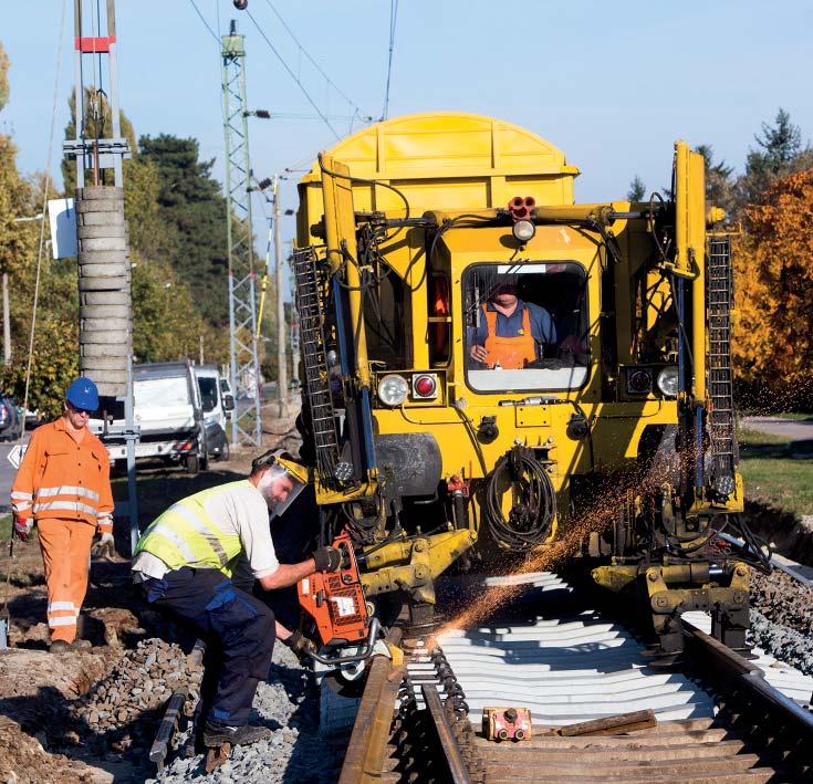
<svg viewBox="0 0 813 784"><path fill-rule="evenodd" d="M411 215L427 209L504 207L514 196L540 205L572 205L575 166L564 153L525 128L460 112L411 114L376 123L327 150L354 177L389 182L409 200ZM322 213L319 164L302 178L308 220ZM354 184L356 210L399 211L393 191Z"/></svg>

